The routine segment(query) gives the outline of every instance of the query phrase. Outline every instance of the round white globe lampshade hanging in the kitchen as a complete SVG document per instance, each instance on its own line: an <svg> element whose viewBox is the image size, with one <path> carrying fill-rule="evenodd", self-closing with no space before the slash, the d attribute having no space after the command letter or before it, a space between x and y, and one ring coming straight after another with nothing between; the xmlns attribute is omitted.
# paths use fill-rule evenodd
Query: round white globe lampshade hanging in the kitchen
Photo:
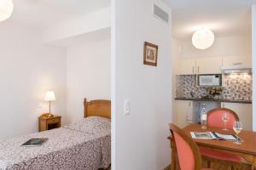
<svg viewBox="0 0 256 170"><path fill-rule="evenodd" d="M214 34L211 30L201 28L195 31L192 37L192 43L195 48L206 49L212 46L214 42Z"/></svg>

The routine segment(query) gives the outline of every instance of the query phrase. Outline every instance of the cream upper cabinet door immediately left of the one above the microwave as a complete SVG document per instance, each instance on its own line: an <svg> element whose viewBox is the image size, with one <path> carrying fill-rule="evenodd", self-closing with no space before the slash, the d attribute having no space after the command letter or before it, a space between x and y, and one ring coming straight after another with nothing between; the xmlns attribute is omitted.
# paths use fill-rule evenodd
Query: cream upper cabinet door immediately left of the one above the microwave
<svg viewBox="0 0 256 170"><path fill-rule="evenodd" d="M178 75L194 75L195 74L195 59L179 59Z"/></svg>

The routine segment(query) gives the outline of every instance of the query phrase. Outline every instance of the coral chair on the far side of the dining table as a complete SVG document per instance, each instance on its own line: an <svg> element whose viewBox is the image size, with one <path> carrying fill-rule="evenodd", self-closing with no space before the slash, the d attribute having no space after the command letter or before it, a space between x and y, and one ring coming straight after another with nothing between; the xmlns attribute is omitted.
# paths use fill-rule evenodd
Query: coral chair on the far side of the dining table
<svg viewBox="0 0 256 170"><path fill-rule="evenodd" d="M222 122L222 116L224 113L227 113L230 116L230 120L226 123L226 127L232 129L234 122L239 121L239 117L236 115L236 112L226 108L219 108L208 111L207 126L223 128L224 122ZM201 156L208 161L208 167L211 167L211 161L221 161L230 164L232 169L234 169L235 166L241 167L241 156L201 147L200 151Z"/></svg>

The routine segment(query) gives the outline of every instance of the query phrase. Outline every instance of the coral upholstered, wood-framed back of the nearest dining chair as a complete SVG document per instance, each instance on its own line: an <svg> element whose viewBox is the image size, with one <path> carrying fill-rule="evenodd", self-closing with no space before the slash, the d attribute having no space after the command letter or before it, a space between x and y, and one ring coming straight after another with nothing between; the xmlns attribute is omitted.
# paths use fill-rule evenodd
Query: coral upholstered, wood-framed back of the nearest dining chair
<svg viewBox="0 0 256 170"><path fill-rule="evenodd" d="M181 170L201 170L201 154L195 142L174 124L169 124Z"/></svg>

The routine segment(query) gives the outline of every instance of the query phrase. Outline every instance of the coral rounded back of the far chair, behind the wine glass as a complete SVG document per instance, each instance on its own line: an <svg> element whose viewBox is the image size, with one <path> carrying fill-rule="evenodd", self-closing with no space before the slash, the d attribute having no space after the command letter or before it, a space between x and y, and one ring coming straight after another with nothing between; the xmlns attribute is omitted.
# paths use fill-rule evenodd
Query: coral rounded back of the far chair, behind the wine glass
<svg viewBox="0 0 256 170"><path fill-rule="evenodd" d="M207 112L207 126L210 127L224 127L224 122L222 121L222 116L224 113L227 113L230 116L229 122L226 122L227 128L233 128L233 124L236 121L239 121L235 111L231 111L226 108L213 109Z"/></svg>

